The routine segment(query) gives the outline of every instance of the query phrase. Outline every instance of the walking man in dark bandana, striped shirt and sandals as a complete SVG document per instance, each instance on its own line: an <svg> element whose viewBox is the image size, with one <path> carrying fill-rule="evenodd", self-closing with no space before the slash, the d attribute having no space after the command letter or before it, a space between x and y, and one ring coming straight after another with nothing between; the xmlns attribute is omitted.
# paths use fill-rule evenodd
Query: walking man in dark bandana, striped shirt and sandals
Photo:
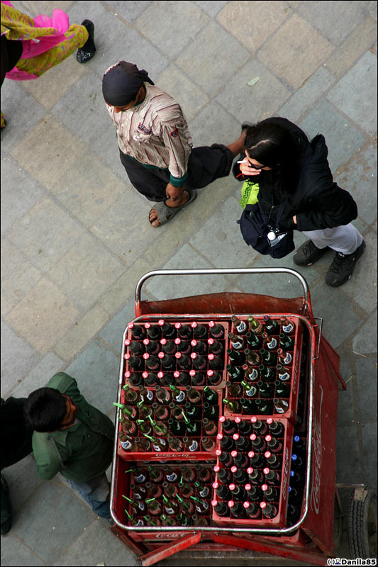
<svg viewBox="0 0 378 567"><path fill-rule="evenodd" d="M120 61L110 67L102 92L128 179L156 203L149 215L154 228L194 201L196 189L227 176L243 150L244 131L228 146L193 148L182 108L135 64Z"/></svg>

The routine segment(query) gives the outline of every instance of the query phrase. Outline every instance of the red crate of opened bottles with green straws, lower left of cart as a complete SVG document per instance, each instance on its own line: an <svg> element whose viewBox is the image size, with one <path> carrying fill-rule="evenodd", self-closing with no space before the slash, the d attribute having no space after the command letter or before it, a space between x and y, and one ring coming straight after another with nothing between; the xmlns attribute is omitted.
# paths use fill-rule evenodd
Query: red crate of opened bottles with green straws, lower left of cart
<svg viewBox="0 0 378 567"><path fill-rule="evenodd" d="M185 466L193 466L193 467L198 464L199 464L198 461L186 461L184 463ZM153 468L163 468L166 465L173 468L174 471L177 473L177 475L180 474L179 466L181 466L182 463L178 464L168 461L165 464L154 463L154 464L135 465L135 462L132 461L123 461L123 459L120 459L119 457L116 459L116 471L114 473L114 478L116 479L116 482L114 486L114 500L113 500L113 512L115 515L116 524L120 526L123 525L131 526L130 520L128 519L128 515L126 514L126 512L128 512L128 514L130 515L131 504L128 502L128 500L124 498L124 496L130 499L132 497L132 490L130 488L130 485L133 484L134 478L133 478L133 471L130 469L138 468L139 471L144 472L144 471L148 471L148 466L153 466ZM201 482L202 486L209 489L209 495L207 495L205 498L201 498L201 496L198 494L198 489L196 487L194 487L194 495L196 497L198 496L198 498L201 498L201 500L205 500L206 503L208 503L209 511L204 514L201 514L201 517L204 517L206 519L206 522L208 522L208 525L211 526L213 525L211 520L211 495L213 489L211 485L214 481L215 473L212 470L213 466L211 464L201 463L201 466L209 469L209 473L210 473L209 481ZM157 498L157 500L159 500L160 503L163 503L162 496ZM185 499L183 498L183 500ZM143 512L143 510L140 510L137 517L143 519L143 515L146 515L146 513L147 512ZM196 510L192 512L192 514L194 513L196 513ZM179 526L180 524L179 524L179 520L177 520L177 517L175 515L172 515L171 517L172 520L174 521L174 525L176 527ZM157 516L157 518L160 519L160 516ZM135 541L145 541L145 540L162 541L162 540L175 539L176 537L182 537L182 535L185 533L184 530L185 530L185 526L182 527L182 531L180 530L177 532L149 532L148 529L145 529L145 531L143 532L128 531L128 536L133 538Z"/></svg>

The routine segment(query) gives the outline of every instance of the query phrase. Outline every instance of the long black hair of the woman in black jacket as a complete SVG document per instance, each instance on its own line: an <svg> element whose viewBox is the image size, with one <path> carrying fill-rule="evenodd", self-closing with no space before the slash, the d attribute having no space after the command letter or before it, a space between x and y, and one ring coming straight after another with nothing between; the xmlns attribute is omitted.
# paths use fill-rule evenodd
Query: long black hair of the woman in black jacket
<svg viewBox="0 0 378 567"><path fill-rule="evenodd" d="M294 191L298 181L301 150L289 128L270 120L249 126L244 149L252 159L279 171L284 192Z"/></svg>

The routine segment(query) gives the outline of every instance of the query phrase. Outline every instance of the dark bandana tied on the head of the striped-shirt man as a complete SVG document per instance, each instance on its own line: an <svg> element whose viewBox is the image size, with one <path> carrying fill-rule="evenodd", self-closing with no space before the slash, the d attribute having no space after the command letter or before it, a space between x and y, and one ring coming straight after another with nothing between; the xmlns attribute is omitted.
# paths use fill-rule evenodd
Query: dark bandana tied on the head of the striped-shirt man
<svg viewBox="0 0 378 567"><path fill-rule="evenodd" d="M144 69L138 69L133 63L120 61L104 74L102 94L111 106L126 106L135 99L143 82L155 84Z"/></svg>

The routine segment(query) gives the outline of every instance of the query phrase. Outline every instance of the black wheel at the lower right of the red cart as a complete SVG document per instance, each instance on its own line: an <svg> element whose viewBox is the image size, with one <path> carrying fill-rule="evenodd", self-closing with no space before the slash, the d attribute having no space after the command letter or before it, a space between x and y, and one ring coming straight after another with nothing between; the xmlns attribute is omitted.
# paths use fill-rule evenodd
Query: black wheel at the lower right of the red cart
<svg viewBox="0 0 378 567"><path fill-rule="evenodd" d="M352 494L348 532L352 558L377 557L377 494L371 488L356 489Z"/></svg>

